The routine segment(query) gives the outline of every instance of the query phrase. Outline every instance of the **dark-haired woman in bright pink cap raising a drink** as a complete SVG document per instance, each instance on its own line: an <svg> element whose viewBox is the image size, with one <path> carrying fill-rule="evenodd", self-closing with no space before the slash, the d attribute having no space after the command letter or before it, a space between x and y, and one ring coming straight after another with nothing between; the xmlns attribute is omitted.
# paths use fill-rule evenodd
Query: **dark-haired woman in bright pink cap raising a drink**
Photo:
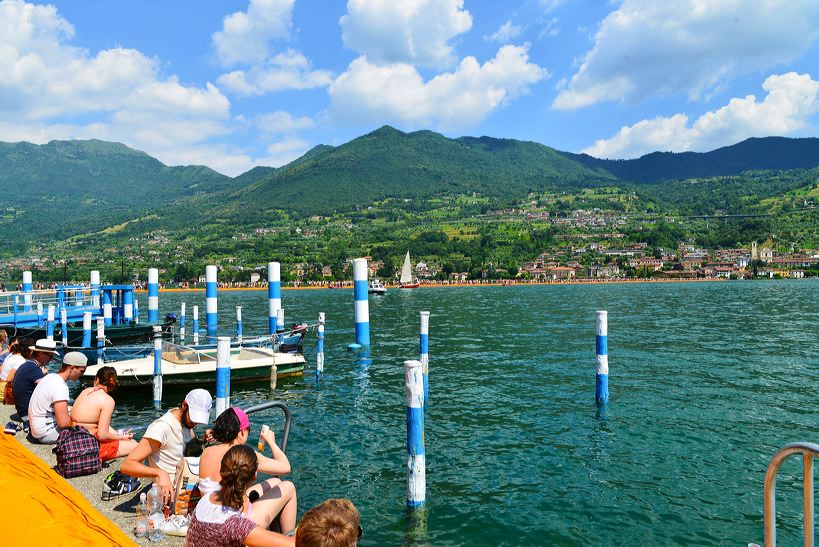
<svg viewBox="0 0 819 547"><path fill-rule="evenodd" d="M222 412L213 422L213 438L219 444L209 446L199 459L199 491L202 495L219 490L222 480L220 469L222 457L234 446L244 445L250 436L250 420L245 411L230 407ZM258 469L269 475L286 475L290 473L290 461L276 444L272 430L261 434L270 446L273 457L254 452L258 460ZM253 500L252 518L259 526L267 528L277 516L283 532L290 532L296 527L296 487L290 481L271 478L256 484L248 490Z"/></svg>

